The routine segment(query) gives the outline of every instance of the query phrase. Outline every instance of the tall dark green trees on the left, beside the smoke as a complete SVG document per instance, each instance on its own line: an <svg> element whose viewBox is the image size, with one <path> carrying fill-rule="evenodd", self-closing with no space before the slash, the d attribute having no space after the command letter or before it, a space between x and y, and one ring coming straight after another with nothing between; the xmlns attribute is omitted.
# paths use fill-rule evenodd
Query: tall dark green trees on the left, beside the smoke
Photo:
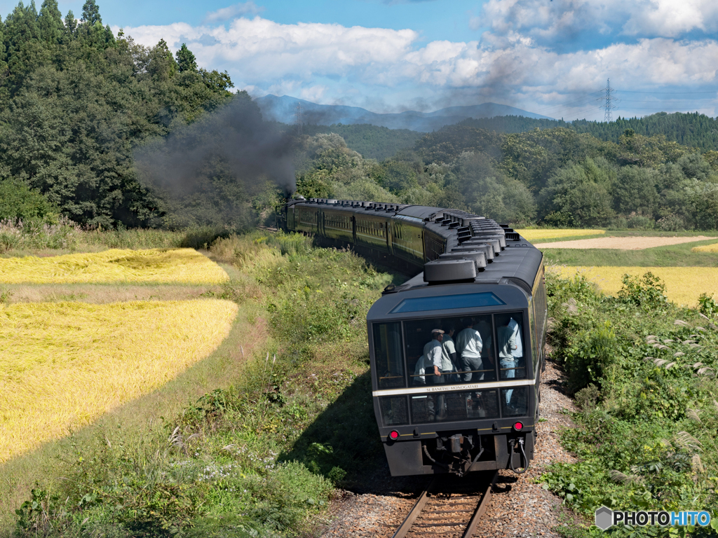
<svg viewBox="0 0 718 538"><path fill-rule="evenodd" d="M22 1L0 19L0 182L22 211L45 200L83 225L144 226L162 218L160 200L139 181L134 151L235 97L226 72L197 67L164 40L143 47L103 25L95 0L80 19L57 0L39 11ZM38 207L32 209L36 200ZM4 214L3 214L4 212Z"/></svg>

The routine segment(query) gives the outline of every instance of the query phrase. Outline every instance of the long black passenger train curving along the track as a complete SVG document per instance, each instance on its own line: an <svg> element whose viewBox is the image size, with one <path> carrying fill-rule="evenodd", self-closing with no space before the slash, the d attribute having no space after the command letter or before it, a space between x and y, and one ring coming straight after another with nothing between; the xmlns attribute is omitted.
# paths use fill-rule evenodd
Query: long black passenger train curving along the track
<svg viewBox="0 0 718 538"><path fill-rule="evenodd" d="M457 209L297 197L285 211L287 230L414 275L367 314L391 475L526 472L545 369L541 251Z"/></svg>

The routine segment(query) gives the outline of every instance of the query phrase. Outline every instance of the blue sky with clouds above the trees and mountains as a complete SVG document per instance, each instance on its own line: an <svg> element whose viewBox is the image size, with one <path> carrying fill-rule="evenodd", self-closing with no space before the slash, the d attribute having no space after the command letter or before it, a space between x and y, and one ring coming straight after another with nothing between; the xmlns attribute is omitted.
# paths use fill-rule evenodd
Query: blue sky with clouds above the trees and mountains
<svg viewBox="0 0 718 538"><path fill-rule="evenodd" d="M80 16L80 1L60 0ZM38 0L39 4L40 1ZM602 121L717 115L716 0L97 0L136 42L182 43L254 97L375 112L500 103ZM6 14L14 4L0 0Z"/></svg>

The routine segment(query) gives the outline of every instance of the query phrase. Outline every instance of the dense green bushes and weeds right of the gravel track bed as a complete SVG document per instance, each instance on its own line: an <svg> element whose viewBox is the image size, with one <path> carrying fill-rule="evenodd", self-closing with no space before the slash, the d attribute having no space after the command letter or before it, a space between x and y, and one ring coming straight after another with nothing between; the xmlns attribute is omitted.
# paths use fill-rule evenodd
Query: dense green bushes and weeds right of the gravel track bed
<svg viewBox="0 0 718 538"><path fill-rule="evenodd" d="M701 312L667 300L646 273L625 277L617 297L584 275L547 277L553 357L564 364L581 412L562 443L579 463L556 464L544 487L583 514L569 537L591 527L602 504L615 510L708 510L718 506L718 305ZM712 528L612 527L615 536L708 536Z"/></svg>

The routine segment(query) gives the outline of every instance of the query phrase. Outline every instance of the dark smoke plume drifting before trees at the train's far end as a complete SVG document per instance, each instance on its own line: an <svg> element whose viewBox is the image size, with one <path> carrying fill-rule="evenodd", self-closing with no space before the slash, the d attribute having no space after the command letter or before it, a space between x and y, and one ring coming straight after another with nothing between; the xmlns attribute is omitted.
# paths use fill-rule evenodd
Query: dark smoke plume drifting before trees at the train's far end
<svg viewBox="0 0 718 538"><path fill-rule="evenodd" d="M272 200L294 192L293 155L293 138L264 122L241 92L134 157L141 183L157 197L162 224L243 229Z"/></svg>

